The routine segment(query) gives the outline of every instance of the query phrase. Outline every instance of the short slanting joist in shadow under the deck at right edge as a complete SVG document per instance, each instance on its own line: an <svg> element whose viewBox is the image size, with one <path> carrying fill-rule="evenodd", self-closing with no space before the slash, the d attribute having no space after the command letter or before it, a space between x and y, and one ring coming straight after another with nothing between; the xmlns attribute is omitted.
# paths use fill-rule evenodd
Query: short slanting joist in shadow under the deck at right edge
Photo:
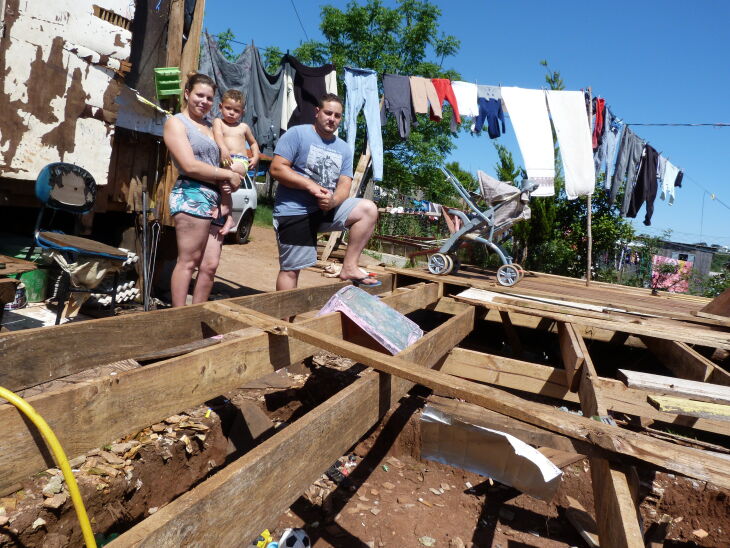
<svg viewBox="0 0 730 548"><path fill-rule="evenodd" d="M642 342L662 364L681 379L710 381L730 386L730 373L683 342L656 337L641 337Z"/></svg>

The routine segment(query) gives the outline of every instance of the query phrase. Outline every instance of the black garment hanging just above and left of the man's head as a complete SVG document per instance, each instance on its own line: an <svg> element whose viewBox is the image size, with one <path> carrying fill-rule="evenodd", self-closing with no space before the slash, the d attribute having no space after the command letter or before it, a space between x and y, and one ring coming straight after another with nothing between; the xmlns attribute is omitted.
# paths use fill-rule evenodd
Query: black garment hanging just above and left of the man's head
<svg viewBox="0 0 730 548"><path fill-rule="evenodd" d="M289 64L294 69L294 97L297 103L287 127L300 124L313 124L314 113L319 100L325 93L337 93L337 73L331 64L309 67L300 63L296 57L284 55L282 65Z"/></svg>

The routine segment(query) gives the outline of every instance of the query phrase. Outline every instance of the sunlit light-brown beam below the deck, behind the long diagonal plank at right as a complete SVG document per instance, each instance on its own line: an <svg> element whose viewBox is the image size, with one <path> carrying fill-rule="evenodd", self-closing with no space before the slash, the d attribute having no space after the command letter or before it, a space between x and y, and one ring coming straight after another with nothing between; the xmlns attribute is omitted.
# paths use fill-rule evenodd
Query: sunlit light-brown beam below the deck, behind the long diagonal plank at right
<svg viewBox="0 0 730 548"><path fill-rule="evenodd" d="M570 392L565 385L565 372L546 365L455 348L450 352L440 370L497 387L578 402L577 394ZM722 421L662 413L649 405L645 392L628 388L620 381L601 377L598 383L610 411L692 427L714 434L726 436L730 434L727 425Z"/></svg>

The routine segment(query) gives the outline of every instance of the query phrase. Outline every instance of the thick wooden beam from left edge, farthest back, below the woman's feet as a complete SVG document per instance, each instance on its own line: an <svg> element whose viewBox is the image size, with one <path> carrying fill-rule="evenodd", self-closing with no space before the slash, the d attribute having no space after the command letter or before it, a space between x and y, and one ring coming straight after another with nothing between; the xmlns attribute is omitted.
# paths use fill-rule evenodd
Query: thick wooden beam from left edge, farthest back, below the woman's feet
<svg viewBox="0 0 730 548"><path fill-rule="evenodd" d="M393 276L381 277L375 294L392 288ZM347 282L247 295L231 302L282 318L321 308ZM0 334L0 386L21 390L90 367L200 341L239 329L205 309L205 304L101 318L54 327Z"/></svg>

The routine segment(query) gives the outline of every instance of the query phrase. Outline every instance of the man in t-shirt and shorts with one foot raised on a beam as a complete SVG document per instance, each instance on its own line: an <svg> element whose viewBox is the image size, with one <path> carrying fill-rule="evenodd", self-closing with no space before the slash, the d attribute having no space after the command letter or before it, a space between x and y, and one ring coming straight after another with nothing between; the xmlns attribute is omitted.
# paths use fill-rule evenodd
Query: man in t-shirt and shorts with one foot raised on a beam
<svg viewBox="0 0 730 548"><path fill-rule="evenodd" d="M317 262L317 233L350 230L342 280L374 287L363 276L360 254L378 218L373 202L348 198L352 185L352 152L335 135L342 121L342 99L328 93L315 111L314 125L290 128L279 139L271 176L279 181L274 203L274 228L279 243L276 290L294 289L299 271Z"/></svg>

